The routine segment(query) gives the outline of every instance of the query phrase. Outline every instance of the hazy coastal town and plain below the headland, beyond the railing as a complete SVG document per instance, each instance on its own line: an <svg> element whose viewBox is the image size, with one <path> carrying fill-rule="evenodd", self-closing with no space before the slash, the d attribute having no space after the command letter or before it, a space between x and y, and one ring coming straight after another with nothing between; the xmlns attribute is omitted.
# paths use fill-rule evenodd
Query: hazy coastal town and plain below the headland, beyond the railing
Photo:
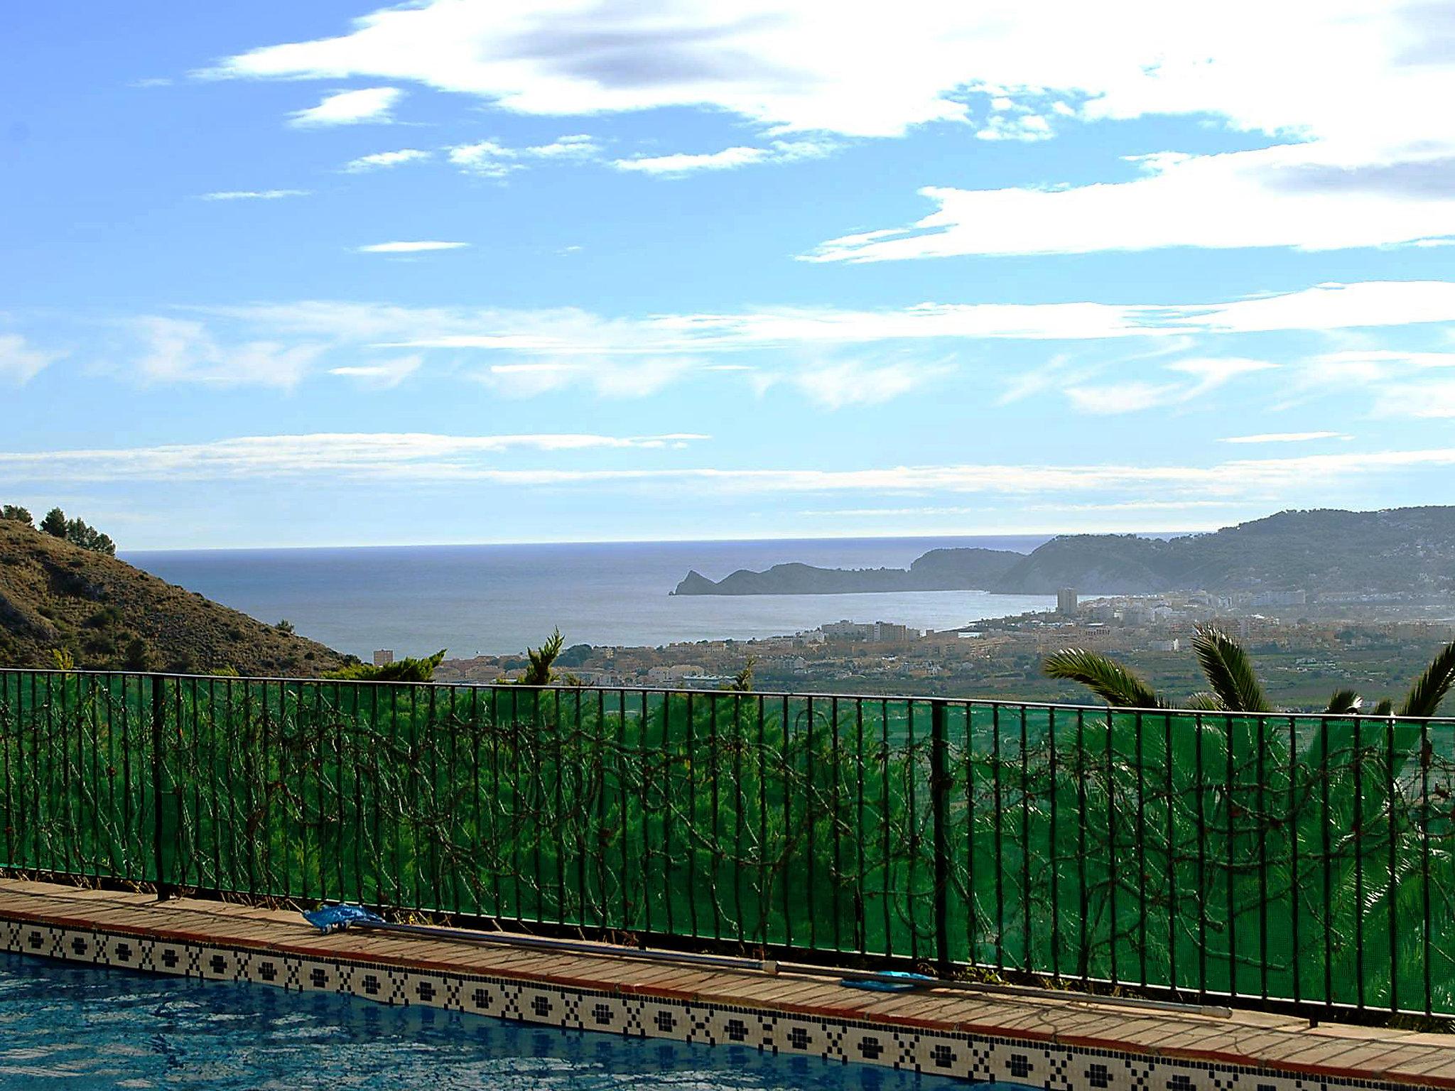
<svg viewBox="0 0 1455 1091"><path fill-rule="evenodd" d="M1212 621L1253 650L1280 701L1302 706L1317 704L1333 687L1398 688L1455 636L1452 618L1449 595L1193 591L1081 599L1068 588L1053 610L938 631L840 620L757 640L658 647L594 647L567 639L557 666L581 685L599 687L723 690L751 666L752 688L764 691L1083 700L1075 687L1042 674L1045 656L1093 649L1190 691L1196 663L1189 640L1197 624ZM447 659L435 676L493 682L517 678L525 666L524 652Z"/></svg>

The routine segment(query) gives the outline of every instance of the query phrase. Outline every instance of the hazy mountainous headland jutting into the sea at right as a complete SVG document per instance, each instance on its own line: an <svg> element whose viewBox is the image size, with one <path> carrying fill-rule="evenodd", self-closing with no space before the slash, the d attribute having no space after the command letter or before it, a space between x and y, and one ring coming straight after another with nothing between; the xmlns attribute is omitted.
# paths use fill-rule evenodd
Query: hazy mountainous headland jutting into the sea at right
<svg viewBox="0 0 1455 1091"><path fill-rule="evenodd" d="M908 569L777 564L713 582L688 573L677 595L805 595L950 591L1049 595L1059 588L1139 595L1160 591L1404 592L1455 578L1455 508L1379 512L1289 511L1213 534L1142 538L1072 534L1030 554L944 548Z"/></svg>

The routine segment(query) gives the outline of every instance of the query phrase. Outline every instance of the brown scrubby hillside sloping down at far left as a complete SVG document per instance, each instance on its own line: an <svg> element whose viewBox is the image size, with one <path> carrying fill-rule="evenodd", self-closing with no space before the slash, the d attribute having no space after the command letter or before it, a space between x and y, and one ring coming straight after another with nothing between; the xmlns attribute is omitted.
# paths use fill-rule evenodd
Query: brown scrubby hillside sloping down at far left
<svg viewBox="0 0 1455 1091"><path fill-rule="evenodd" d="M0 666L317 675L330 647L265 626L125 562L0 519Z"/></svg>

